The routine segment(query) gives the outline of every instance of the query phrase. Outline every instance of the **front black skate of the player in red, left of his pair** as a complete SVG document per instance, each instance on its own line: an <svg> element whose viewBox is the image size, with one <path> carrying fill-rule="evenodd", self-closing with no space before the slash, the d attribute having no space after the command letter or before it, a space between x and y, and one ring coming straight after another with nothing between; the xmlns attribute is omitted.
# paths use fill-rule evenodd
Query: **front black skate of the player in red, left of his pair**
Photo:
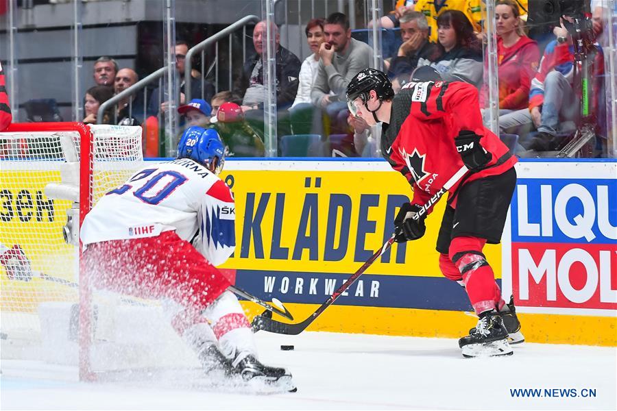
<svg viewBox="0 0 617 411"><path fill-rule="evenodd" d="M459 340L459 347L465 358L512 355L508 332L500 313L496 311L483 313L474 332Z"/></svg>

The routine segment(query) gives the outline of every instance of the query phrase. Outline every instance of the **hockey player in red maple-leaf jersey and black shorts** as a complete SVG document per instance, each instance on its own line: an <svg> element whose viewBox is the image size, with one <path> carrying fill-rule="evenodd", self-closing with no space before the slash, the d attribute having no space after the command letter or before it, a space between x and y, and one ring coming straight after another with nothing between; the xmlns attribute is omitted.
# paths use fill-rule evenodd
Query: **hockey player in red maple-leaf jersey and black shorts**
<svg viewBox="0 0 617 411"><path fill-rule="evenodd" d="M459 340L463 356L512 353L522 342L513 301L505 303L482 249L500 241L516 184L516 158L482 123L476 88L442 82L430 67L417 69L394 95L387 76L365 69L347 88L350 110L369 125L382 122L382 153L407 178L413 199L394 221L395 240L418 240L432 208L424 205L466 166L469 172L449 191L437 238L439 268L465 287L479 316L470 335ZM419 219L413 219L414 214Z"/></svg>

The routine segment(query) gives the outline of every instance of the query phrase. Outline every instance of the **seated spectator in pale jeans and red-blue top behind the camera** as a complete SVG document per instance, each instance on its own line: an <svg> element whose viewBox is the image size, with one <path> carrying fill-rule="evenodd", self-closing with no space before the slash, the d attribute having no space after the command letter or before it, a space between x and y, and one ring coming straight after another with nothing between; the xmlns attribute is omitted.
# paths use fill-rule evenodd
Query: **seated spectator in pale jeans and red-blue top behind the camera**
<svg viewBox="0 0 617 411"><path fill-rule="evenodd" d="M569 132L576 128L580 116L580 97L573 88L574 49L568 30L553 29L556 39L549 42L540 60L540 69L531 80L529 108L500 116L502 132L519 134L519 142L527 150L548 151L557 149L560 140L557 133ZM604 74L604 56L600 45L592 62L591 104L598 113L598 97ZM581 70L581 68L577 68ZM574 122L574 123L572 123ZM537 129L531 138L524 134Z"/></svg>

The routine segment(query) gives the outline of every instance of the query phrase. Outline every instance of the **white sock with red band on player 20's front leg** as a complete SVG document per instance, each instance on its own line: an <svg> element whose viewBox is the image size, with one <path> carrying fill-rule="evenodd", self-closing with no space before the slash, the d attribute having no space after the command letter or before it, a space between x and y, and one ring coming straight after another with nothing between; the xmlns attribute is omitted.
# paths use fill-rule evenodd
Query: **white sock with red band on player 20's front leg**
<svg viewBox="0 0 617 411"><path fill-rule="evenodd" d="M233 360L234 366L249 354L257 357L251 325L232 292L223 292L203 314L210 320L221 352Z"/></svg>

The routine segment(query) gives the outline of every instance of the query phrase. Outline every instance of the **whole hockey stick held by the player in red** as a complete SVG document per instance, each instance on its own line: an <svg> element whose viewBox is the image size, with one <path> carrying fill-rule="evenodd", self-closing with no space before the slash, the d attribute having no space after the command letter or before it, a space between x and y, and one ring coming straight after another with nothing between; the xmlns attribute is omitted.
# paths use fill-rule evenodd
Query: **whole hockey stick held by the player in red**
<svg viewBox="0 0 617 411"><path fill-rule="evenodd" d="M457 184L457 182L459 182L459 180L463 177L463 175L465 175L465 173L467 173L467 171L468 171L467 167L462 166L461 169L459 169L459 171L455 173L455 175L452 175L452 177L450 177L450 179L446 182L446 184L444 184L441 190L435 193L435 195L433 195L431 199L428 199L428 201L426 201L426 204L422 206L422 209L420 210L420 212L416 213L413 218L416 220L420 219L420 216L425 214L426 211L429 208L431 208L431 206L433 206L433 204L437 203L437 201L441 198L442 195L444 195L444 193L447 190L449 190L450 188L452 188L452 186ZM324 310L326 310L328 306L334 303L337 300L337 298L339 298L341 293L345 292L345 290L347 290L352 284L354 284L356 279L358 279L358 277L360 277L369 268L369 266L373 264L373 262L375 262L375 260L377 260L380 256L382 256L383 253L385 253L387 249L390 248L393 242L394 242L394 235L391 236L387 240L387 242L385 242L383 247L378 249L378 251L375 251L375 253L371 256L371 258L369 258L360 267L358 271L356 271L351 277L347 279L346 282L344 282L339 288L337 288L337 290L333 292L332 295L330 295L330 297L328 297L328 299L321 306L319 306L319 308L317 308L317 310L315 310L315 312L313 312L311 316L309 316L309 318L302 321L302 323L297 323L297 324L281 323L280 321L275 321L273 319L268 318L267 316L258 315L253 319L252 327L254 331L257 332L258 330L263 329L264 331L274 332L276 334L289 334L289 335L294 335L294 336L297 334L300 334L301 332L304 331L304 329L306 329L306 327L309 327L309 325L313 323L313 321L315 321L315 319L317 318L317 316L319 316L319 314L322 314L322 312L324 312Z"/></svg>

